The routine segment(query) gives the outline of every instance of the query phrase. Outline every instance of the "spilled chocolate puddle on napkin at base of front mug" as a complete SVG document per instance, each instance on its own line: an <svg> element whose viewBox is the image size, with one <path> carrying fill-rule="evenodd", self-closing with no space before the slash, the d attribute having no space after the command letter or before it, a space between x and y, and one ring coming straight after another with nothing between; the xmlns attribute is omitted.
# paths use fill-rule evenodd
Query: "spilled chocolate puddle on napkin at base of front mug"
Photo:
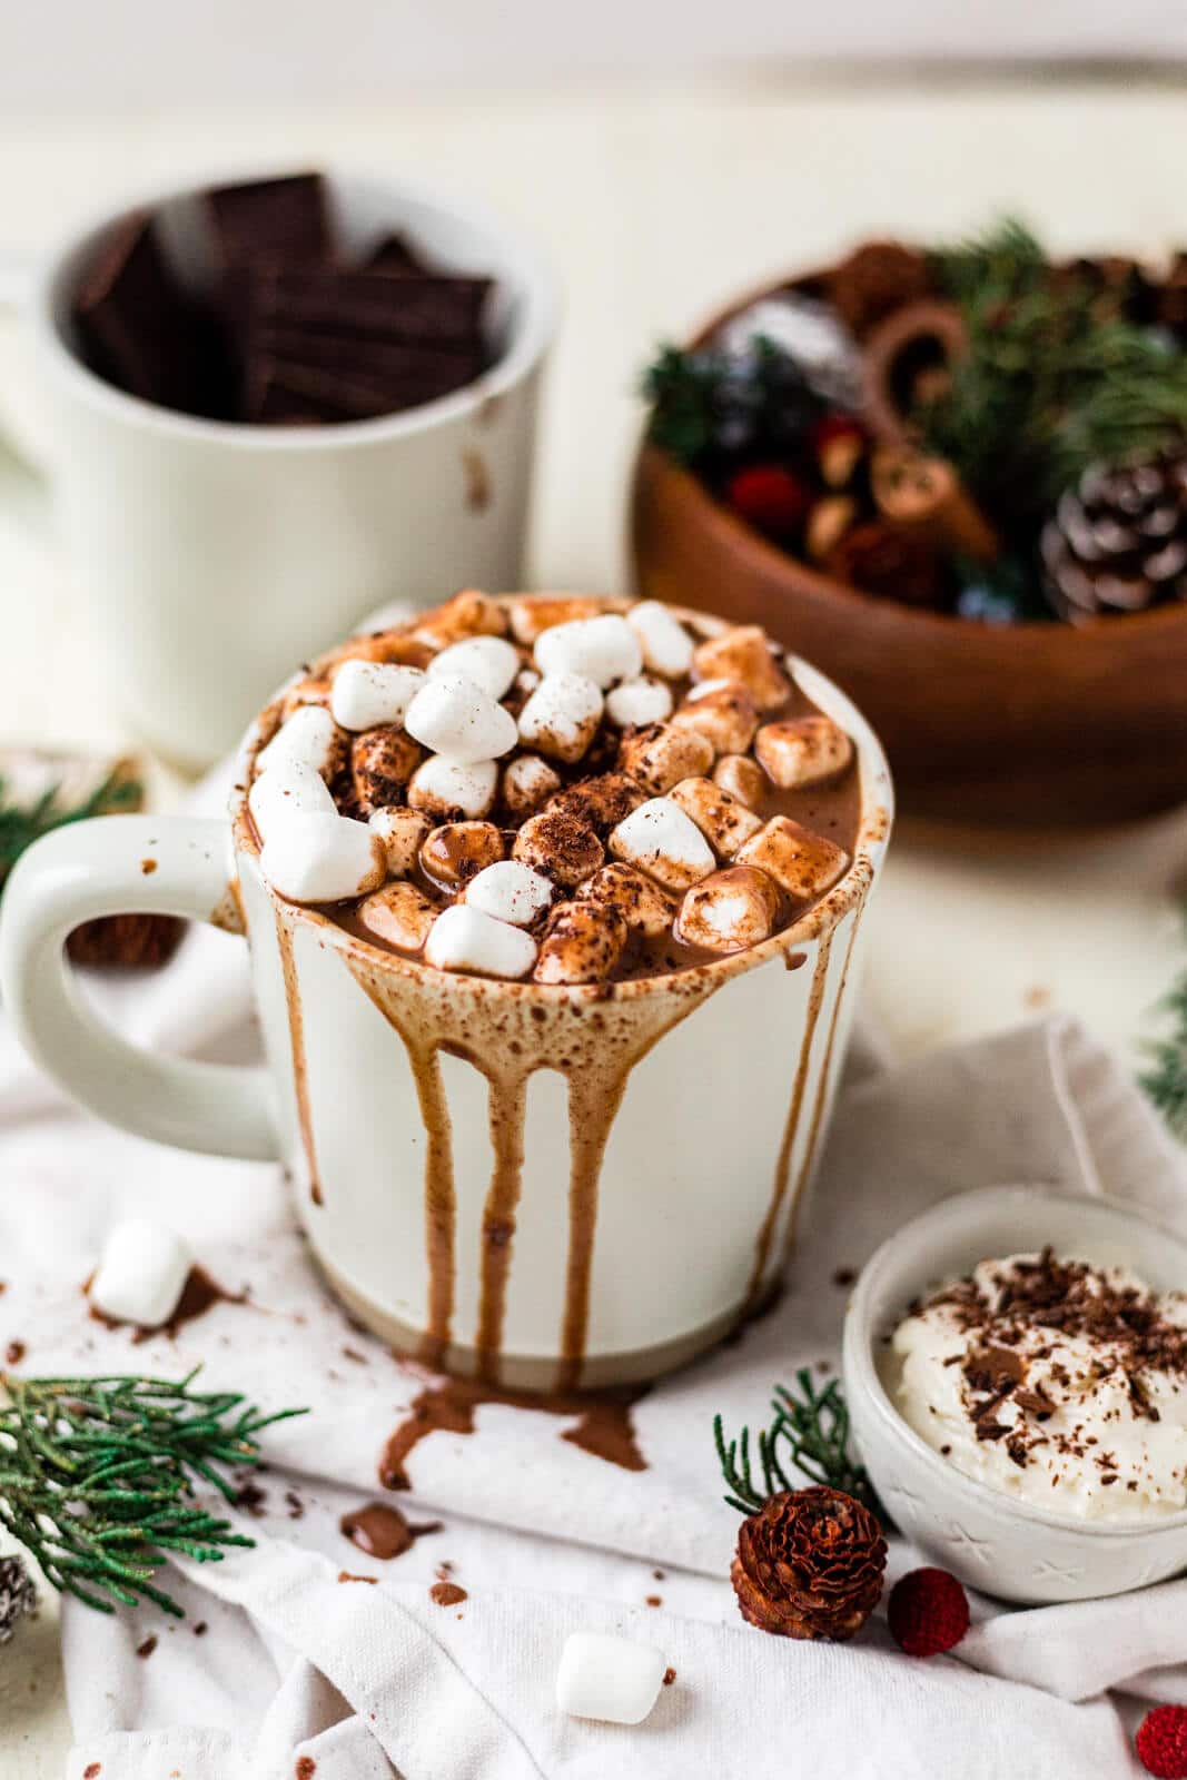
<svg viewBox="0 0 1187 1780"><path fill-rule="evenodd" d="M569 1445L580 1447L582 1452L605 1460L609 1465L619 1465L623 1470L646 1470L648 1461L639 1451L630 1419L634 1404L644 1396L646 1385L596 1397L578 1392L537 1396L530 1390L502 1390L479 1380L447 1378L413 1399L408 1417L383 1449L379 1483L384 1490L411 1490L406 1468L409 1454L422 1440L438 1431L472 1435L475 1412L484 1403L502 1403L514 1410L536 1410L543 1415L573 1419L575 1426L566 1428L561 1435Z"/></svg>

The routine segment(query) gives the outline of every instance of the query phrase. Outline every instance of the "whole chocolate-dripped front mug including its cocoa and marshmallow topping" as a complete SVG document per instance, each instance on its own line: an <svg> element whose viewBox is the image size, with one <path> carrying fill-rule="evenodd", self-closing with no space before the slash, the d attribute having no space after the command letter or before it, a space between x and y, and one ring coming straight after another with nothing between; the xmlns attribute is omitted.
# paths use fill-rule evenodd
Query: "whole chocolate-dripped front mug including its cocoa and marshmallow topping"
<svg viewBox="0 0 1187 1780"><path fill-rule="evenodd" d="M666 716L625 721L626 687ZM101 1116L281 1157L326 1276L400 1349L632 1383L779 1283L890 815L868 724L763 632L466 591L251 726L230 892L221 822L30 849L0 981ZM123 910L247 933L265 1072L144 1056L78 1004L62 938Z"/></svg>

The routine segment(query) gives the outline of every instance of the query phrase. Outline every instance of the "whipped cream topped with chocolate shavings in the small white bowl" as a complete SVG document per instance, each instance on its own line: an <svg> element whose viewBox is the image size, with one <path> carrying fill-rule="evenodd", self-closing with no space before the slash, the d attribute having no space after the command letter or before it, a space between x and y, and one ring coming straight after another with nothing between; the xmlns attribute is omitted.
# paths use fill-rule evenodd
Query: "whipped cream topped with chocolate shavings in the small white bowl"
<svg viewBox="0 0 1187 1780"><path fill-rule="evenodd" d="M957 1470L1084 1520L1187 1508L1187 1294L1125 1267L1009 1255L915 1305L895 1397Z"/></svg>

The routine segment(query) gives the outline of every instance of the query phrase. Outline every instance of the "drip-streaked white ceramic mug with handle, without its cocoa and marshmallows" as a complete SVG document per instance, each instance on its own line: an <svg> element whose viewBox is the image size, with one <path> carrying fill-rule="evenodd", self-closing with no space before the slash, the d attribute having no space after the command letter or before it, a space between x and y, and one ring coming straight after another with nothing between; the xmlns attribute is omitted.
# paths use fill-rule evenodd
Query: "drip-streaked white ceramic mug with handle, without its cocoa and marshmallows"
<svg viewBox="0 0 1187 1780"><path fill-rule="evenodd" d="M246 739L230 826L101 817L20 860L0 920L5 1006L101 1118L283 1159L331 1285L400 1349L504 1387L653 1378L778 1285L886 849L872 730L815 669L788 671L856 742L860 833L824 901L747 952L646 981L500 983L285 902L260 874L242 789L272 705ZM96 1018L62 942L128 910L242 922L265 1070L149 1056Z"/></svg>

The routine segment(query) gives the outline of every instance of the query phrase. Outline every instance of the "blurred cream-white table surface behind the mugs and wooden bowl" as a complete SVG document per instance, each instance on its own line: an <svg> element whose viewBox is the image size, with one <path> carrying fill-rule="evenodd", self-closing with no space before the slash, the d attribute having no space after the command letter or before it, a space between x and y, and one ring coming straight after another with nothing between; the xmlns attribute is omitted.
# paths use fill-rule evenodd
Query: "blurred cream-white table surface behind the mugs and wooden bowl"
<svg viewBox="0 0 1187 1780"><path fill-rule="evenodd" d="M568 312L543 417L537 587L623 587L639 370L731 290L867 233L959 233L1004 208L1055 249L1187 240L1180 85L1020 75L0 117L0 253L36 251L75 210L139 185L306 162L470 187L550 249ZM2 406L21 363L12 338L0 345ZM0 463L0 740L123 746L37 522L36 491ZM1180 961L1185 863L1187 812L1048 844L902 824L870 917L867 1007L904 1056L1050 1007L1134 1054ZM0 1780L57 1780L68 1743L50 1604L0 1650Z"/></svg>

